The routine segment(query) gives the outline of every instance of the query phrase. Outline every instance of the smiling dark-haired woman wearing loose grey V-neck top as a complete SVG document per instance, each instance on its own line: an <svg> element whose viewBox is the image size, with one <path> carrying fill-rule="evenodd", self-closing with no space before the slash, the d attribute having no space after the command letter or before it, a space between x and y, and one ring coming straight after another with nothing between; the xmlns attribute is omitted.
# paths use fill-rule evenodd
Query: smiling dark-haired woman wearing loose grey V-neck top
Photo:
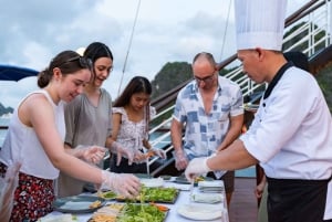
<svg viewBox="0 0 332 222"><path fill-rule="evenodd" d="M111 148L112 98L102 85L113 70L113 54L104 43L93 42L83 56L92 61L92 78L83 93L65 106L65 148L80 149L92 145ZM103 161L98 167L103 168ZM58 187L59 197L79 194L83 187L94 189L94 186L65 172L60 173Z"/></svg>

